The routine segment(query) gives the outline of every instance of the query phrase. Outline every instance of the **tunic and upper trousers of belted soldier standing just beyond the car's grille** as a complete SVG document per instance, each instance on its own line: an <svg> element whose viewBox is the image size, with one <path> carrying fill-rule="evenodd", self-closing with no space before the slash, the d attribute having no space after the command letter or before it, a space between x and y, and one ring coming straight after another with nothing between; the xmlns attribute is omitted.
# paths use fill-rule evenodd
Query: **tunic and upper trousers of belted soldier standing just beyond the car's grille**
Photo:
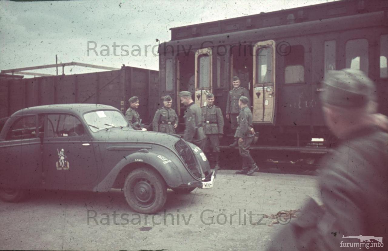
<svg viewBox="0 0 388 251"><path fill-rule="evenodd" d="M208 150L208 143L210 142L213 152L220 152L219 134L223 134L223 116L220 107L218 106L204 106L201 107L202 116L204 118L204 132L206 134L206 151Z"/></svg>

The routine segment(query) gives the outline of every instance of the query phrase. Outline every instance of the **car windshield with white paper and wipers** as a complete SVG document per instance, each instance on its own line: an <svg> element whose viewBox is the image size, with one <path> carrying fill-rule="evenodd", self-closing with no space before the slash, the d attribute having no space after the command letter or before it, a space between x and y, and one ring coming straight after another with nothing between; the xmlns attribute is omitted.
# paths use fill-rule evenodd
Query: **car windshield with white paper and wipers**
<svg viewBox="0 0 388 251"><path fill-rule="evenodd" d="M93 111L85 113L83 118L92 132L98 132L99 130L118 126L128 126L128 122L119 111Z"/></svg>

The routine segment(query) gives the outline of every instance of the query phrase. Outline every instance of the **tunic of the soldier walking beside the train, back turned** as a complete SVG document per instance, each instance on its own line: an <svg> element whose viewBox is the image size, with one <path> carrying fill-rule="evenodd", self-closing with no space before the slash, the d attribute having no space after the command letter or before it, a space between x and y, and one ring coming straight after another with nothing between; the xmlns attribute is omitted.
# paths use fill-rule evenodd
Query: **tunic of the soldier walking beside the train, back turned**
<svg viewBox="0 0 388 251"><path fill-rule="evenodd" d="M241 156L249 156L249 147L252 144L254 134L251 133L252 112L248 106L242 107L238 116L238 125L234 137L242 138L242 142L239 142L239 153Z"/></svg>

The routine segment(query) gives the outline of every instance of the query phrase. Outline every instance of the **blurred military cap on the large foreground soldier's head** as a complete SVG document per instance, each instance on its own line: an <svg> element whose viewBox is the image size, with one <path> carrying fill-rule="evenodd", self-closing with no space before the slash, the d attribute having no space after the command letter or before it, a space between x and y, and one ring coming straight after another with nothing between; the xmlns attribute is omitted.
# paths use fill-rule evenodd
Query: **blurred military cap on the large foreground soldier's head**
<svg viewBox="0 0 388 251"><path fill-rule="evenodd" d="M356 69L329 71L320 99L326 104L344 108L361 108L376 101L376 88L365 73Z"/></svg>

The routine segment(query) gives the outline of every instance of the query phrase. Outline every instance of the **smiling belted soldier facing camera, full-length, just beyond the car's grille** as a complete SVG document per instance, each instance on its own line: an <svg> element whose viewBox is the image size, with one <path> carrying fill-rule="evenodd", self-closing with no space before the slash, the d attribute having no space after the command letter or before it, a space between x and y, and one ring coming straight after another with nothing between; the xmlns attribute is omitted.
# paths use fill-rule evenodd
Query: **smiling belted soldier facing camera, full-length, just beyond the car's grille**
<svg viewBox="0 0 388 251"><path fill-rule="evenodd" d="M214 105L214 95L208 93L206 95L208 104L203 106L202 116L204 117L204 131L206 134L205 152L209 148L209 143L213 151L214 159L216 162L215 169L220 168L220 140L218 137L222 137L223 134L223 116L220 107Z"/></svg>

